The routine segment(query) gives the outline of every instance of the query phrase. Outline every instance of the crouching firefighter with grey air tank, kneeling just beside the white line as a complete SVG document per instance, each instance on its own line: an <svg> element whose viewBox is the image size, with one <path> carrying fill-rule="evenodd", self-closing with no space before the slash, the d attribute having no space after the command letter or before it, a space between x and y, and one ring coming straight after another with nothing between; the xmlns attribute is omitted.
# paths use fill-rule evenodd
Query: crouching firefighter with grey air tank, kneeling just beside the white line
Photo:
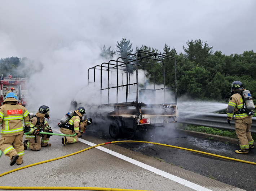
<svg viewBox="0 0 256 191"><path fill-rule="evenodd" d="M62 138L63 145L66 145L67 143L76 143L78 141L77 135L79 134L79 125L84 113L85 109L83 107L79 107L72 118L68 121L68 124L61 127L60 131L63 134L74 135L74 133L76 133L76 136L73 137L64 136Z"/></svg>

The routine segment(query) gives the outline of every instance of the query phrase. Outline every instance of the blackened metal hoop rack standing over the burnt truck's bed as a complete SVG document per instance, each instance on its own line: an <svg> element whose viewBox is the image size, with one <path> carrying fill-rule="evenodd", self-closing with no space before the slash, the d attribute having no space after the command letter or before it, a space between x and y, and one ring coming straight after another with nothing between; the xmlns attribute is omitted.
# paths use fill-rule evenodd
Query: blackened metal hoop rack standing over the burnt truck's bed
<svg viewBox="0 0 256 191"><path fill-rule="evenodd" d="M130 58L129 56L134 56L134 58ZM123 61L121 61L121 59ZM143 61L143 59L147 59L149 61ZM161 59L168 59L168 60L173 60L175 61L175 87L169 87L166 88L165 87L165 65L163 60ZM125 61L124 61L125 60ZM150 60L155 60L158 62L162 62L163 65L163 88L160 89L155 89L155 65L154 63L151 63ZM143 64L143 65L142 65ZM154 84L154 90L164 90L164 104L166 103L166 89L170 89L170 88L175 88L175 103L177 105L177 77L176 77L176 73L177 73L177 69L176 69L176 59L174 57L171 56L167 56L167 55L163 55L163 54L159 54L159 53L155 53L155 52L149 52L149 51L145 51L145 50L138 50L136 52L136 54L127 54L127 56L124 57L119 57L116 60L110 60L109 62L103 62L101 65L96 65L94 67L91 67L88 69L88 84L90 83L89 81L89 70L93 69L94 70L94 83L95 83L95 78L96 78L96 70L100 70L101 72L101 79L100 79L100 83L101 83L101 87L100 87L100 91L101 91L101 99L102 99L102 90L108 90L108 104L110 104L110 89L112 88L116 88L116 103L118 103L118 88L120 87L126 87L126 103L128 103L128 93L131 93L130 91L128 91L128 87L130 87L131 85L136 85L136 103L138 103L138 92L139 92L139 84L138 84L138 67L142 67L144 69L144 89L146 89L146 69L145 69L145 65L146 64L150 64L153 66L153 84ZM136 66L134 67L130 67L130 66ZM100 67L100 68L99 68ZM130 83L130 73L128 71L129 68L135 69L136 70L136 83ZM124 69L126 71L124 71ZM116 70L116 86L114 87L110 87L110 70ZM122 85L119 85L119 77L118 77L118 71L119 70L123 70L124 73L126 74L126 84L123 84L123 77L122 77ZM108 87L107 88L102 88L102 71L107 71L108 72Z"/></svg>

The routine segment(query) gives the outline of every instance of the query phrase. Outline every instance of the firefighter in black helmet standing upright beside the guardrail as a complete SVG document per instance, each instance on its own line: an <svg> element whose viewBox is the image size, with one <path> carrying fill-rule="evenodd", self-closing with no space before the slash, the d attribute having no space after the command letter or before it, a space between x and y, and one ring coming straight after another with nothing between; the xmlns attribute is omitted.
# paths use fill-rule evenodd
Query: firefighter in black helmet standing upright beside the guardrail
<svg viewBox="0 0 256 191"><path fill-rule="evenodd" d="M245 90L243 88L243 83L240 81L234 81L231 84L232 94L228 104L227 114L228 123L233 118L235 111L235 132L239 138L240 150L236 150L235 153L248 154L249 149L254 149L253 139L251 135L251 125L252 125L252 115L248 113L239 111L244 107L242 92Z"/></svg>

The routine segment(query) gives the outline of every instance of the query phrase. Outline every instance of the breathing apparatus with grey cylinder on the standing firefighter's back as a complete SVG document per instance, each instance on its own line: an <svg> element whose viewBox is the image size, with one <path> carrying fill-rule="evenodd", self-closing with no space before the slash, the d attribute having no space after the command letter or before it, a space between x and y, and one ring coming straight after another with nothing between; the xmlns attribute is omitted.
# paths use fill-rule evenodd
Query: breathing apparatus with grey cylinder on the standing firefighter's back
<svg viewBox="0 0 256 191"><path fill-rule="evenodd" d="M242 93L243 108L239 109L236 113L242 114L247 113L249 116L254 115L253 110L255 109L254 103L252 101L251 92L249 90L244 90Z"/></svg>

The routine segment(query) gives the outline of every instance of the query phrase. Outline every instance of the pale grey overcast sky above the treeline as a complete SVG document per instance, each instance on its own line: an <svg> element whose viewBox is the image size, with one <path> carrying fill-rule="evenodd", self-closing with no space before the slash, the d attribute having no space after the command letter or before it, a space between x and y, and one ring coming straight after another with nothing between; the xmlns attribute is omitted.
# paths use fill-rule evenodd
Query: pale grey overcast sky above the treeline
<svg viewBox="0 0 256 191"><path fill-rule="evenodd" d="M38 58L74 42L115 50L122 37L178 52L201 38L230 55L255 51L255 19L255 0L1 0L0 57Z"/></svg>

